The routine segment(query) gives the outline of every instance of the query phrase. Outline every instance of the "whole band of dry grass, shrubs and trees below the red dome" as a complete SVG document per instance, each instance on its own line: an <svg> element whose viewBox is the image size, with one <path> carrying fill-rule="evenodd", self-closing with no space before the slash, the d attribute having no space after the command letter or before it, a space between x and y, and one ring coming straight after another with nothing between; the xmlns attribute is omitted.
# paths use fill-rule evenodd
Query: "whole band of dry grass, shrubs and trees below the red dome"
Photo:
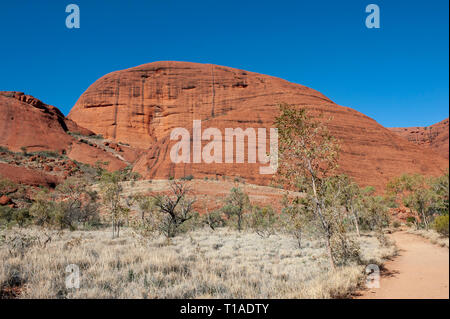
<svg viewBox="0 0 450 319"><path fill-rule="evenodd" d="M342 298L365 266L395 255L389 209L412 231L447 238L448 173L403 175L383 195L338 175L337 141L304 109L280 106L282 209L258 206L235 181L218 209L195 209L194 176L125 194L139 178L98 165L54 190L0 180L0 298ZM5 201L6 202L6 201ZM200 203L201 204L201 203ZM206 205L205 205L206 206ZM202 207L202 205L200 205ZM80 268L67 288L66 267Z"/></svg>

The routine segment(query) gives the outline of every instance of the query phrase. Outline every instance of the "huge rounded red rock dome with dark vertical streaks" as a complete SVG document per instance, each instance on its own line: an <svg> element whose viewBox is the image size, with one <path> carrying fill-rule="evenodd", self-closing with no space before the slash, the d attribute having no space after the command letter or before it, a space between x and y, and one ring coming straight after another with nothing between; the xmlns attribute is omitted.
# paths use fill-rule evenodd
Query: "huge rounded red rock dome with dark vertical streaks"
<svg viewBox="0 0 450 319"><path fill-rule="evenodd" d="M268 184L272 176L259 174L261 164L247 160L174 164L170 134L177 127L192 132L193 120L201 120L203 130L218 128L222 134L225 128L270 128L279 102L331 118L327 125L342 148L340 169L362 185L381 188L401 173L436 175L448 166L444 158L313 89L211 64L155 62L107 74L83 93L69 118L96 134L147 149L135 165L146 178L222 175Z"/></svg>

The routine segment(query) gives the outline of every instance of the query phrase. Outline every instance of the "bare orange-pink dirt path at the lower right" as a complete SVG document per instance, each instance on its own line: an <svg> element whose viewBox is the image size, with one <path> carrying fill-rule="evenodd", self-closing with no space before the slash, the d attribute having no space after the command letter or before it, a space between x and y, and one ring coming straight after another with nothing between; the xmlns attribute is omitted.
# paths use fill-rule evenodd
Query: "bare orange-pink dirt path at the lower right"
<svg viewBox="0 0 450 319"><path fill-rule="evenodd" d="M385 264L380 288L368 289L362 299L449 298L449 250L404 231L390 235L399 256Z"/></svg>

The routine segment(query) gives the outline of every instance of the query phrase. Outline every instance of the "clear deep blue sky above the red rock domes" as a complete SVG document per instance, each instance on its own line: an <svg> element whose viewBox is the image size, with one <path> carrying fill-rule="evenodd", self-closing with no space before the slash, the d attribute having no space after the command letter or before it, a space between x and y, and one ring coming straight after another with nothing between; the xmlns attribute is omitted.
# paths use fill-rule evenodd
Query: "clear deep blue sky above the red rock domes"
<svg viewBox="0 0 450 319"><path fill-rule="evenodd" d="M78 4L81 28L65 26ZM365 27L376 3L381 28ZM0 90L65 114L102 75L214 63L314 88L385 126L448 117L447 0L21 0L0 5Z"/></svg>

